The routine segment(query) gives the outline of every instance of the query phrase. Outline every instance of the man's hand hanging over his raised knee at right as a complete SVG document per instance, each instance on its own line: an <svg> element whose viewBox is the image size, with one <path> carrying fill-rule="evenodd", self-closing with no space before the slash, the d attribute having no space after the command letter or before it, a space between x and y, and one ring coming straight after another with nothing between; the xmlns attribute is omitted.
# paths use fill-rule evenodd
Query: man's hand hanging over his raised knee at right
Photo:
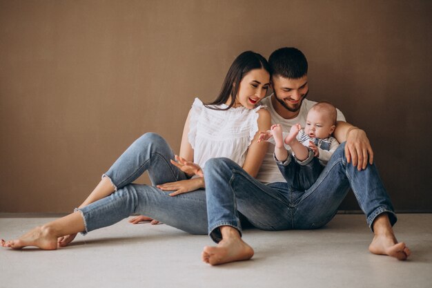
<svg viewBox="0 0 432 288"><path fill-rule="evenodd" d="M353 127L346 133L345 144L346 161L357 166L357 170L366 169L368 164L373 164L373 151L366 132L362 129Z"/></svg>

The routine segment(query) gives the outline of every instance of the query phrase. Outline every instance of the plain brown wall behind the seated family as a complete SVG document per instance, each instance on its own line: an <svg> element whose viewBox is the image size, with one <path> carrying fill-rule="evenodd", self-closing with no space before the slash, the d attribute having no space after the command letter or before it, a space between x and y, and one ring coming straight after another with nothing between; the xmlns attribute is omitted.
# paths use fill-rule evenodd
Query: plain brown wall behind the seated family
<svg viewBox="0 0 432 288"><path fill-rule="evenodd" d="M397 210L432 211L431 1L0 0L0 212L65 212L135 138L178 151L235 56L296 46L364 128ZM341 209L358 209L351 195Z"/></svg>

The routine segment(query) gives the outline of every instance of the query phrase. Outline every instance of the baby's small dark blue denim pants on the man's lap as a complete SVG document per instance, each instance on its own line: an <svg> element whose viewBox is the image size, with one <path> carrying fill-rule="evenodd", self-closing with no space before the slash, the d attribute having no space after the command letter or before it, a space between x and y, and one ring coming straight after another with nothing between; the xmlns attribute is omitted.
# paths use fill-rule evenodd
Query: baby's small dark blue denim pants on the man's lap
<svg viewBox="0 0 432 288"><path fill-rule="evenodd" d="M313 156L313 151L308 151L308 157L304 161L297 160L290 153L285 162L276 161L277 168L291 190L304 191L311 188L324 169L320 160Z"/></svg>

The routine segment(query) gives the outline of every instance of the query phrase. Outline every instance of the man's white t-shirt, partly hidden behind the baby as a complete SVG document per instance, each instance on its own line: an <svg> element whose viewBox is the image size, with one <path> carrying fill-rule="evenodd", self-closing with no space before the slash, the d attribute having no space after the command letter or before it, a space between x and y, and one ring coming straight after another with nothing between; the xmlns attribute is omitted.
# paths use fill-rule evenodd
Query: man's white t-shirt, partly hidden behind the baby
<svg viewBox="0 0 432 288"><path fill-rule="evenodd" d="M302 106L300 107L300 113L297 117L293 119L285 119L281 115L277 114L273 104L271 103L271 97L268 96L262 99L261 104L267 106L268 112L271 115L271 124L280 124L282 126L282 131L288 133L291 126L300 123L302 127L306 125L306 116L308 111L317 102L304 99ZM337 110L337 121L345 121L345 117L339 109ZM275 151L275 145L269 144L266 157L262 162L261 168L258 171L257 180L263 183L273 183L273 182L286 182L279 169L277 168L275 159L273 158L273 152Z"/></svg>

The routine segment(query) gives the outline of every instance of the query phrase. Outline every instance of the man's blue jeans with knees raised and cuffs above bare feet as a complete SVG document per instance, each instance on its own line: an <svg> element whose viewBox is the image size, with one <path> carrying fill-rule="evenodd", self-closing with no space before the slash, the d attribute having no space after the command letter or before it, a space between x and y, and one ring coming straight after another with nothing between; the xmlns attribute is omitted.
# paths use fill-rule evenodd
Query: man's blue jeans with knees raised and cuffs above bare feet
<svg viewBox="0 0 432 288"><path fill-rule="evenodd" d="M396 222L393 206L375 164L357 171L346 162L345 144L340 144L315 184L306 191L290 189L285 182L262 184L227 158L206 162L204 179L208 233L219 242L219 227L231 226L242 233L239 213L263 230L316 229L329 222L351 186L372 228L373 220L388 213Z"/></svg>

